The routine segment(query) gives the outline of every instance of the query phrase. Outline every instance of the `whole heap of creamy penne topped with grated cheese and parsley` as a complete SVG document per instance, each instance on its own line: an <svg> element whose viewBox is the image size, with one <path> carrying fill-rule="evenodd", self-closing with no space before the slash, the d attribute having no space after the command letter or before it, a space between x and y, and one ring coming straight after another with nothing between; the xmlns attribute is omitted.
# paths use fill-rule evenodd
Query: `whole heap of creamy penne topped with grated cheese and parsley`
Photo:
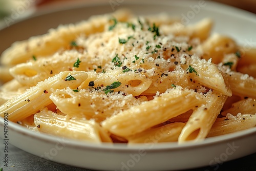
<svg viewBox="0 0 256 171"><path fill-rule="evenodd" d="M0 116L92 143L185 143L255 127L256 51L211 35L213 24L118 10L15 42L1 56Z"/></svg>

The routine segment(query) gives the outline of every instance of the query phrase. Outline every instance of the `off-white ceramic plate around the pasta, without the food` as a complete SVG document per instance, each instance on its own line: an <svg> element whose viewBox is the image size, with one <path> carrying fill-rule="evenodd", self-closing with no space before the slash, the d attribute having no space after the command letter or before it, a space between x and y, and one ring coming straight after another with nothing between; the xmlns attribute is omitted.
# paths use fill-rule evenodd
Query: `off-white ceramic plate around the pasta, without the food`
<svg viewBox="0 0 256 171"><path fill-rule="evenodd" d="M104 3L63 5L62 10L36 14L35 17L16 23L0 31L0 53L13 41L45 33L58 24L74 23L90 15L113 12L111 1ZM256 16L238 9L208 1L115 1L118 8L130 8L136 14L167 12L181 16L184 24L195 23L204 17L215 20L214 32L227 34L236 39L244 49L256 46ZM199 7L199 8L198 8ZM53 12L55 11L55 12ZM184 17L185 16L185 17ZM245 27L246 26L246 27ZM26 29L23 29L26 28ZM4 120L0 118L0 137L4 137ZM256 152L256 127L253 129L208 138L202 142L95 145L37 134L16 123L8 122L9 143L26 152L46 159L91 169L100 170L177 170L201 166L216 168L218 162L237 159ZM36 167L36 166L35 166ZM36 169L36 168L35 168Z"/></svg>

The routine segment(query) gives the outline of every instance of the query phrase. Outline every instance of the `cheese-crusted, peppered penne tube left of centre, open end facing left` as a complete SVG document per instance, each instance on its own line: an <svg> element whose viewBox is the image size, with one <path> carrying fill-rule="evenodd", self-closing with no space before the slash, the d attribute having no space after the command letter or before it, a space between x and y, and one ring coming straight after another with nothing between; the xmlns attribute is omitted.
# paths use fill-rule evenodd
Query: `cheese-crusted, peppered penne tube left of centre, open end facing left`
<svg viewBox="0 0 256 171"><path fill-rule="evenodd" d="M94 119L96 122L147 100L145 96L135 98L118 92L105 94L102 90L74 92L72 89L66 89L52 92L50 99L62 113L71 117Z"/></svg>

